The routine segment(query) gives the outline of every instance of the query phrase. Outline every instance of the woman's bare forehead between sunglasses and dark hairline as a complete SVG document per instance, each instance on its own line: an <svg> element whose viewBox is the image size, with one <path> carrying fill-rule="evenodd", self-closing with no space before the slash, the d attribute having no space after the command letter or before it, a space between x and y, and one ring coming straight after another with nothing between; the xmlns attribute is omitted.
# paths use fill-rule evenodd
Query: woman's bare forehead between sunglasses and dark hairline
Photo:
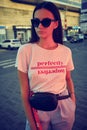
<svg viewBox="0 0 87 130"><path fill-rule="evenodd" d="M54 18L53 14L47 9L39 9L35 12L34 18Z"/></svg>

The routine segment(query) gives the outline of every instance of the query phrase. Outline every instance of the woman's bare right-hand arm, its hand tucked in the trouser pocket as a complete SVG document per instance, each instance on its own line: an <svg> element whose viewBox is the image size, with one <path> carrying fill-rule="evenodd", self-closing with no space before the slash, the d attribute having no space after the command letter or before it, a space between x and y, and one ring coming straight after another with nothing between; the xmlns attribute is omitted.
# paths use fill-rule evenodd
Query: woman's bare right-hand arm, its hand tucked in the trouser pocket
<svg viewBox="0 0 87 130"><path fill-rule="evenodd" d="M71 99L74 101L74 103L76 103L74 83L73 83L70 71L66 72L66 81L67 81L68 91L71 95Z"/></svg>

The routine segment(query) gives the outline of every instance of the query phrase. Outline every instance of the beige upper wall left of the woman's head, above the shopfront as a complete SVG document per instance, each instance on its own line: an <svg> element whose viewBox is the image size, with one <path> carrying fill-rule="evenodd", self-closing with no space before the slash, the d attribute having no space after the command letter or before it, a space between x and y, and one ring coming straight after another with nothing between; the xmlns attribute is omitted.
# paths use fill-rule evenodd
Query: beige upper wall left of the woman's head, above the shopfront
<svg viewBox="0 0 87 130"><path fill-rule="evenodd" d="M30 26L34 6L11 2L10 0L0 1L0 25L8 28L13 25Z"/></svg>

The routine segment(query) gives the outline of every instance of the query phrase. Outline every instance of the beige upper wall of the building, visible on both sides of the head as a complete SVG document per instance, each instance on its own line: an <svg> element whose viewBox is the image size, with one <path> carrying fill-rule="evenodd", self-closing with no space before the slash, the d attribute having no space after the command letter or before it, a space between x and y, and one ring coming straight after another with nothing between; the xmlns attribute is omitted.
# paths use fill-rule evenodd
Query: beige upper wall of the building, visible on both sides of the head
<svg viewBox="0 0 87 130"><path fill-rule="evenodd" d="M34 6L19 4L10 0L0 0L0 25L5 25L7 28L16 26L30 26L30 19L32 18ZM79 25L79 13L60 11L62 18L62 25L65 26L65 19L67 26Z"/></svg>

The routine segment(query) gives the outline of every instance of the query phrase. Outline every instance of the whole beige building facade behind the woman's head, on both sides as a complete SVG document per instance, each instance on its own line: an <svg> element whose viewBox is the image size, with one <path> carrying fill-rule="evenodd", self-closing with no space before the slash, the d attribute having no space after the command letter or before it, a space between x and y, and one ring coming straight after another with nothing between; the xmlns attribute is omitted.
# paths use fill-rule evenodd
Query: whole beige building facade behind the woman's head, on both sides
<svg viewBox="0 0 87 130"><path fill-rule="evenodd" d="M0 1L0 42L4 39L22 38L28 41L31 32L32 12L42 0ZM46 0L44 0L46 1ZM81 0L48 0L54 2L61 14L63 29L79 26Z"/></svg>

